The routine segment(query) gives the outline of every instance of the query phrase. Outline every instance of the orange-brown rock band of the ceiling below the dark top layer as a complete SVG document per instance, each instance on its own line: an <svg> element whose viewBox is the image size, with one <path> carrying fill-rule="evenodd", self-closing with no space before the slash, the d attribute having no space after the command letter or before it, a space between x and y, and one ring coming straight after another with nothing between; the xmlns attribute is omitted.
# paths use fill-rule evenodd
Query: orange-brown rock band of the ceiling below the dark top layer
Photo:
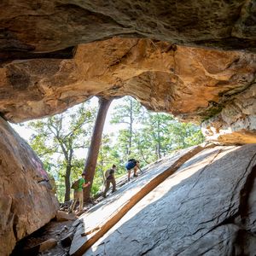
<svg viewBox="0 0 256 256"><path fill-rule="evenodd" d="M239 107L252 119L256 111L248 111L248 104L255 102L255 71L254 54L112 38L80 45L73 60L20 61L1 68L0 113L20 122L60 113L90 96L130 95L154 111L201 121L229 102L234 108L243 92ZM223 124L231 125L225 119ZM253 125L240 123L236 131L242 130L255 133Z"/></svg>

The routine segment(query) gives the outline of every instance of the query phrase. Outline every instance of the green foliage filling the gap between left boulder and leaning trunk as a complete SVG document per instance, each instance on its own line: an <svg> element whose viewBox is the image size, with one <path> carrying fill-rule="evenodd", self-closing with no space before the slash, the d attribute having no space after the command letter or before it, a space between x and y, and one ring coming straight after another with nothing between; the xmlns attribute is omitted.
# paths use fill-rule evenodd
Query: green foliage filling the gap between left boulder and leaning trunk
<svg viewBox="0 0 256 256"><path fill-rule="evenodd" d="M96 110L87 103L28 123L34 131L29 143L43 160L45 169L55 177L60 201L64 195L66 201L70 198L70 185L65 187L65 180L67 183L77 179L84 168L84 159L78 159L77 152L79 148L88 148L95 115Z"/></svg>

